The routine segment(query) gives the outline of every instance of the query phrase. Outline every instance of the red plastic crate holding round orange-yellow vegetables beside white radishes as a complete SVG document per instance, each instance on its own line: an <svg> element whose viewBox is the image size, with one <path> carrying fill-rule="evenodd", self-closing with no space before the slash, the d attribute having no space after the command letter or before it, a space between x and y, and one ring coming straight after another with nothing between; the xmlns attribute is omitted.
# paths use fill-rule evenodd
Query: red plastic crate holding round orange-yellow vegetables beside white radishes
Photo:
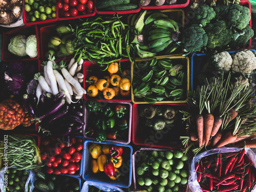
<svg viewBox="0 0 256 192"><path fill-rule="evenodd" d="M119 61L117 61L119 62ZM131 62L129 59L121 59L121 69L128 69L131 70ZM90 70L90 71L88 71ZM88 87L90 86L89 83L86 83L86 80L92 76L95 75L99 79L103 79L104 75L109 75L109 72L106 71L101 71L100 67L97 65L95 62L91 61L84 61L83 62L83 89L87 90ZM131 88L130 88L131 89ZM96 100L96 101L112 101L112 102L131 102L131 95L129 97L123 97L119 94L119 96L114 97L113 99L105 99L102 95L96 96L96 97L90 97L88 94L84 95L85 100Z"/></svg>

